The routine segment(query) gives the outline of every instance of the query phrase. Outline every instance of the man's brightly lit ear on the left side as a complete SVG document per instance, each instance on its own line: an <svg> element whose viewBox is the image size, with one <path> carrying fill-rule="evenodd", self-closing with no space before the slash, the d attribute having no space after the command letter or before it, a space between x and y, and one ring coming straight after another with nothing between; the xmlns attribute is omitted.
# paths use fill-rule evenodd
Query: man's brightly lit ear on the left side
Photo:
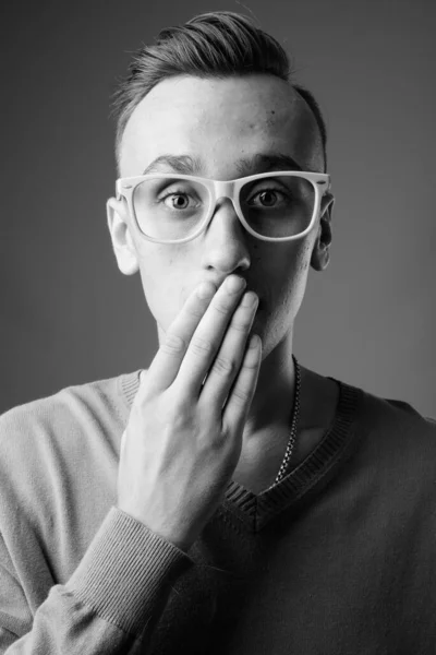
<svg viewBox="0 0 436 655"><path fill-rule="evenodd" d="M125 201L109 198L106 210L118 267L124 275L133 275L140 270L140 263L128 223Z"/></svg>

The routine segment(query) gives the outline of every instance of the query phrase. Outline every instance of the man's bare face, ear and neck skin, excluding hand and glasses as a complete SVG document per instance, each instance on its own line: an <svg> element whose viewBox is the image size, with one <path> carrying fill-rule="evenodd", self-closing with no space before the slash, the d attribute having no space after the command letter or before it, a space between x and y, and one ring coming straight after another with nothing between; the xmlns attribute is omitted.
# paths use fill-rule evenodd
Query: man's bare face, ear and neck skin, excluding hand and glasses
<svg viewBox="0 0 436 655"><path fill-rule="evenodd" d="M160 155L190 155L197 175L218 180L241 177L238 160L256 154L292 156L302 170L323 171L318 129L305 102L271 75L225 80L180 76L155 86L133 111L120 150L120 177L142 175ZM162 172L172 172L167 165ZM250 170L244 175L258 172ZM124 201L109 199L108 224L120 271L140 272L159 343L187 296L203 281L219 287L230 274L242 276L259 306L252 333L261 336L263 360L243 433L240 471L259 467L265 453L272 471L280 464L289 429L294 371L293 324L308 270L329 261L332 198L323 198L320 219L304 239L269 243L246 233L230 201L219 203L208 229L182 245L149 242L129 227ZM336 395L331 382L304 369L302 457L316 443L310 430L328 424ZM305 396L304 396L305 394ZM275 437L272 439L272 437ZM313 437L313 436L312 436ZM284 441L283 441L284 439ZM238 474L238 469L237 469Z"/></svg>

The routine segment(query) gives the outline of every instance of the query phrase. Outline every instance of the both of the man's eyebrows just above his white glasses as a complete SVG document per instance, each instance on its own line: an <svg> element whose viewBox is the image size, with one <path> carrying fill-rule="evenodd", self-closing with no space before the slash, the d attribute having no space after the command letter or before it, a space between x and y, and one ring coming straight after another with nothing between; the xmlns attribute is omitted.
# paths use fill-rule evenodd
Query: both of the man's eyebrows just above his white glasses
<svg viewBox="0 0 436 655"><path fill-rule="evenodd" d="M303 170L293 157L281 153L259 153L253 157L242 157L235 165L241 177L270 170ZM164 172L162 168L172 168L182 175L199 175L203 166L201 159L190 155L160 155L148 164L142 175Z"/></svg>

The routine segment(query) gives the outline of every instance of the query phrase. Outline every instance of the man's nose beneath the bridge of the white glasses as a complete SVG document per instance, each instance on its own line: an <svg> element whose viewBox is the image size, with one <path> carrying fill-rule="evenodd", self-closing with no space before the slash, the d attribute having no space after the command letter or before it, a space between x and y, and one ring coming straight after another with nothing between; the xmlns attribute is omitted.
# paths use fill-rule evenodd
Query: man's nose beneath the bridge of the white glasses
<svg viewBox="0 0 436 655"><path fill-rule="evenodd" d="M214 216L203 236L203 266L222 275L246 271L251 264L247 237L228 198L217 202Z"/></svg>

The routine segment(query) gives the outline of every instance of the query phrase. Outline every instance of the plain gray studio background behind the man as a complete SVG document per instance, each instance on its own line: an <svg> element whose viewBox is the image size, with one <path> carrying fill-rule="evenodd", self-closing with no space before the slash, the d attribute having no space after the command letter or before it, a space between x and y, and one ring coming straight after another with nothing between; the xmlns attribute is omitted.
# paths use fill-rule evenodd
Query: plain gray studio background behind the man
<svg viewBox="0 0 436 655"><path fill-rule="evenodd" d="M146 367L155 322L116 266L109 100L130 53L201 11L249 13L320 102L337 196L301 362L436 416L435 3L2 3L0 412Z"/></svg>

